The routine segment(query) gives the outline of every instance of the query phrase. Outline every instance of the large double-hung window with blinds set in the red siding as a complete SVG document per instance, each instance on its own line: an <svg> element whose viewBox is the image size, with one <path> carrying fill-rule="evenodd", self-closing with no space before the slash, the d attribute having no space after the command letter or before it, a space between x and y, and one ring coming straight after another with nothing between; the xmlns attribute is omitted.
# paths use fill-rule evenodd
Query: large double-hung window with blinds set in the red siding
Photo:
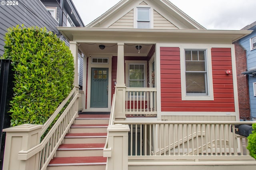
<svg viewBox="0 0 256 170"><path fill-rule="evenodd" d="M206 50L185 49L186 95L208 95Z"/></svg>

